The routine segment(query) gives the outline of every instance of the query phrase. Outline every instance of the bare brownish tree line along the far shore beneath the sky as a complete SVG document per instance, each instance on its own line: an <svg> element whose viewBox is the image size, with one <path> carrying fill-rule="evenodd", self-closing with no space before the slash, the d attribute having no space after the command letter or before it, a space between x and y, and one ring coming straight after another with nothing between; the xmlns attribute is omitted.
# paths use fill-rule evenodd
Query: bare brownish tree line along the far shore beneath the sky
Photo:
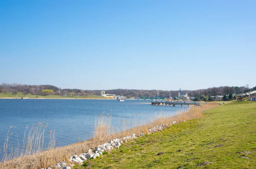
<svg viewBox="0 0 256 169"><path fill-rule="evenodd" d="M225 96L231 97L233 93L240 94L247 91L256 90L256 86L250 88L249 85L245 86L221 86L221 87L209 87L207 89L199 90L181 90L181 95L198 97L201 100L210 100L211 96ZM101 95L102 90L81 90L81 89L61 89L53 85L21 85L21 84L7 84L2 83L0 85L0 93L12 92L16 95L17 92L22 92L25 95L59 95L59 96L88 96L88 95ZM160 97L168 98L171 93L171 97L176 97L178 90L158 90ZM136 90L136 89L113 89L105 90L106 94L115 94L119 96L126 96L127 98L138 97L156 97L157 90Z"/></svg>

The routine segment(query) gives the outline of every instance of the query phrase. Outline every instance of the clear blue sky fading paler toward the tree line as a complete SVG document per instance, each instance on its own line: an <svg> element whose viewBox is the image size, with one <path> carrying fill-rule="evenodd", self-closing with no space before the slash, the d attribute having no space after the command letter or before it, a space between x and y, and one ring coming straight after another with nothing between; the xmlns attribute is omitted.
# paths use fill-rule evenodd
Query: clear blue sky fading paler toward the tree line
<svg viewBox="0 0 256 169"><path fill-rule="evenodd" d="M0 1L0 83L253 87L255 6L254 0Z"/></svg>

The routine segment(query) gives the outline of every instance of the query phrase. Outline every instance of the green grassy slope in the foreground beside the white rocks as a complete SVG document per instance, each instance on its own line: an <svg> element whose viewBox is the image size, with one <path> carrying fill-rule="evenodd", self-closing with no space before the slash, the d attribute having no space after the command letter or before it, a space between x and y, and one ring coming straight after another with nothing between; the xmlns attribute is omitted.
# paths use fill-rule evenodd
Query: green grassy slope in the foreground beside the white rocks
<svg viewBox="0 0 256 169"><path fill-rule="evenodd" d="M137 138L78 168L255 167L256 102L235 101L205 111L202 118Z"/></svg>

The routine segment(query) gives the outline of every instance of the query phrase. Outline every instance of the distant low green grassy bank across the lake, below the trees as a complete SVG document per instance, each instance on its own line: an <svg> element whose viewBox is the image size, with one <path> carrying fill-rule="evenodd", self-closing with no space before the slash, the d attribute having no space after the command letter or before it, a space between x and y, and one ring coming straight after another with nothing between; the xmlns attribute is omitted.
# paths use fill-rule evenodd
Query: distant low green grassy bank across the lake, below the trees
<svg viewBox="0 0 256 169"><path fill-rule="evenodd" d="M21 92L18 92L17 95L18 99L20 98L38 98L38 99L108 99L102 96L97 95L87 95L87 96L59 96L59 95L48 95L48 96L41 96L41 95L23 95ZM0 93L0 98L16 98L15 95L12 95L12 92Z"/></svg>

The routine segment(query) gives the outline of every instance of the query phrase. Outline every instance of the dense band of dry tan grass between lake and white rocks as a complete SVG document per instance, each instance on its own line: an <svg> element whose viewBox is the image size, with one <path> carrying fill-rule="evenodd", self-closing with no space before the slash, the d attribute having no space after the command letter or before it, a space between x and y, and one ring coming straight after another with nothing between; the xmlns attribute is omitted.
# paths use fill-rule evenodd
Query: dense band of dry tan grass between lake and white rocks
<svg viewBox="0 0 256 169"><path fill-rule="evenodd" d="M116 132L116 133L109 133L107 135L102 135L102 133L108 133L110 130L108 128L108 123L100 123L97 124L95 128L95 133L93 135L93 138L86 140L86 141L80 141L74 144L70 144L67 146L61 146L61 147L56 147L53 149L48 149L42 152L37 152L35 154L31 155L24 155L18 158L14 159L9 159L6 161L2 161L0 163L0 168L5 167L5 166L15 166L20 169L25 169L27 167L28 162L30 163L30 167L34 168L38 166L41 166L42 164L40 163L40 160L44 159L45 157L52 157L52 158L47 158L47 161L45 161L44 165L45 166L52 166L58 163L59 161L63 161L64 159L66 160L67 164L70 164L69 157L71 155L76 155L76 154L81 154L84 153L85 151L88 151L91 147L97 147L98 145L104 144L105 142L108 142L113 139L122 139L123 137L126 137L127 135L140 135L142 134L148 134L148 132L151 133L151 129L154 128L155 126L160 126L162 124L169 126L170 124L178 124L182 121L187 121L189 119L194 119L194 118L200 118L203 115L204 110L211 109L213 107L217 107L217 104L205 104L200 107L192 107L186 112L181 112L177 113L177 115L171 116L171 117L163 117L163 118L158 118L152 121L149 124L145 124L142 126L133 126L131 129L125 130L123 132ZM68 157L68 158L67 158ZM38 160L34 160L38 159ZM17 166L17 164L19 166ZM14 167L14 168L15 168Z"/></svg>

